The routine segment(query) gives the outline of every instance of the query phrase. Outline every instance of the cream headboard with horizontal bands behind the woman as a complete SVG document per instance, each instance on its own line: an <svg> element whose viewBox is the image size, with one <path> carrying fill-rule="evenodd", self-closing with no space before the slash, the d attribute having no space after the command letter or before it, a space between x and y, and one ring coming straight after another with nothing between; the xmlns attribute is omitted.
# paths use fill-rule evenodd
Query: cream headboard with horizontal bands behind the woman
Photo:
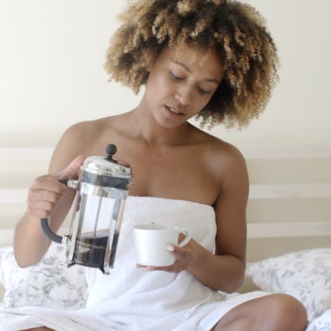
<svg viewBox="0 0 331 331"><path fill-rule="evenodd" d="M11 245L28 187L47 172L52 149L0 149L0 245ZM331 247L331 157L254 157L250 174L248 261ZM71 214L69 214L69 217ZM68 218L69 218L68 217ZM64 223L69 226L68 220Z"/></svg>

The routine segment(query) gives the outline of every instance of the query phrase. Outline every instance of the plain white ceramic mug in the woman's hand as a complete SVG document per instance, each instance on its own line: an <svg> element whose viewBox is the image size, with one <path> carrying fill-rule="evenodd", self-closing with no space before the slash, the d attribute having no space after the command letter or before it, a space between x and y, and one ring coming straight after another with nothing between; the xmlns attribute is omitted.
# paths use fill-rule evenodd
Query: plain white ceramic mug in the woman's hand
<svg viewBox="0 0 331 331"><path fill-rule="evenodd" d="M151 267L173 265L175 256L166 247L169 244L182 247L191 239L190 231L178 226L138 224L133 227L133 233L137 262ZM184 233L186 238L178 244L180 233Z"/></svg>

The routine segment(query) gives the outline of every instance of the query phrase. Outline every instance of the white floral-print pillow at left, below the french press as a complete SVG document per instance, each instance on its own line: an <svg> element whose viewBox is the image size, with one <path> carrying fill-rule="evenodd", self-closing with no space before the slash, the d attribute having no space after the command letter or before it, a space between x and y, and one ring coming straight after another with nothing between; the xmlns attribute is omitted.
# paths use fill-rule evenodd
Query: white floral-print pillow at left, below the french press
<svg viewBox="0 0 331 331"><path fill-rule="evenodd" d="M66 266L64 246L52 243L45 257L28 268L20 268L13 248L0 248L0 281L6 288L0 308L43 306L76 310L85 308L88 287L85 269Z"/></svg>

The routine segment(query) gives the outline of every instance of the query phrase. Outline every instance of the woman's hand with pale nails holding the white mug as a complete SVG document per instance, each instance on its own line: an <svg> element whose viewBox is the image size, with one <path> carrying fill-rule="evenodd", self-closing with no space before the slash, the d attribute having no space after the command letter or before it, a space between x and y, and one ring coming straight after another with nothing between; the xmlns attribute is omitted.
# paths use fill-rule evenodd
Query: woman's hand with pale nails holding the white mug
<svg viewBox="0 0 331 331"><path fill-rule="evenodd" d="M180 242L185 239L185 236L180 233ZM152 267L137 264L138 268L146 267L146 271L162 270L165 272L173 272L178 274L183 270L189 269L197 261L201 250L204 248L199 245L195 240L191 239L185 246L168 245L168 248L173 248L170 252L175 255L175 262L173 265L167 267ZM169 250L169 249L168 249Z"/></svg>

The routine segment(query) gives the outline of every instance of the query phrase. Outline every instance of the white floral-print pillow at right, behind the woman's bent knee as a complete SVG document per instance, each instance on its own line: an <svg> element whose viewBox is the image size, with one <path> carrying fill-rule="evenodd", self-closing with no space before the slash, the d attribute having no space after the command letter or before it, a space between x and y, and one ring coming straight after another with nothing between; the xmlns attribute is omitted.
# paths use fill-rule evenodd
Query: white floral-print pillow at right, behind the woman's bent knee
<svg viewBox="0 0 331 331"><path fill-rule="evenodd" d="M331 248L290 252L255 262L246 274L262 291L297 298L306 307L308 320L331 308Z"/></svg>

